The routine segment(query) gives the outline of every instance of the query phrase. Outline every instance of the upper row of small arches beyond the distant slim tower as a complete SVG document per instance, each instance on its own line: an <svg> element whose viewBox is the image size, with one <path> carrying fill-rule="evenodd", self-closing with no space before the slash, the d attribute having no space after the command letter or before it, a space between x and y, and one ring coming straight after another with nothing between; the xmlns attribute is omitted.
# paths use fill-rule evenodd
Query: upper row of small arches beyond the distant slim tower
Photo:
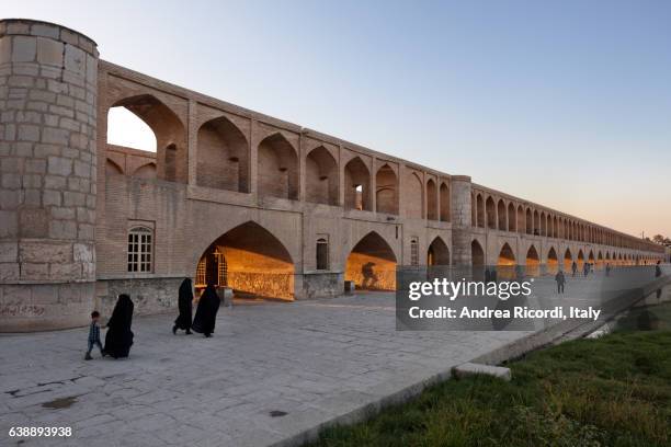
<svg viewBox="0 0 671 447"><path fill-rule="evenodd" d="M636 238L618 234L549 210L538 210L510 199L497 198L484 192L473 194L471 225L479 228L599 243L623 249L642 250L650 248Z"/></svg>

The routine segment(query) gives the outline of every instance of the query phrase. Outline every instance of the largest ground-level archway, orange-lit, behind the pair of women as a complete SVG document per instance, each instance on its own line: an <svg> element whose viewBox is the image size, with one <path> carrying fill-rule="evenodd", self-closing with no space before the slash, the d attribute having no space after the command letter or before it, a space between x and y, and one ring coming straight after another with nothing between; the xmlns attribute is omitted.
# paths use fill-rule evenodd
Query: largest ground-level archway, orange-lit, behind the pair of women
<svg viewBox="0 0 671 447"><path fill-rule="evenodd" d="M282 242L249 221L226 232L203 253L195 287L230 287L236 297L294 299L294 263Z"/></svg>

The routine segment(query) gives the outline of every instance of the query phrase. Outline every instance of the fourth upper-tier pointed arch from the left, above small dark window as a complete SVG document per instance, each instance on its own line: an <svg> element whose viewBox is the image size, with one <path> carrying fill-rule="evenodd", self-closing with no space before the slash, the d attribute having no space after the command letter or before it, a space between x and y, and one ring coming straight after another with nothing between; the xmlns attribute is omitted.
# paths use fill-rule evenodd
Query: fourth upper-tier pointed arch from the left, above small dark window
<svg viewBox="0 0 671 447"><path fill-rule="evenodd" d="M305 199L338 205L338 163L323 146L310 150L305 159Z"/></svg>

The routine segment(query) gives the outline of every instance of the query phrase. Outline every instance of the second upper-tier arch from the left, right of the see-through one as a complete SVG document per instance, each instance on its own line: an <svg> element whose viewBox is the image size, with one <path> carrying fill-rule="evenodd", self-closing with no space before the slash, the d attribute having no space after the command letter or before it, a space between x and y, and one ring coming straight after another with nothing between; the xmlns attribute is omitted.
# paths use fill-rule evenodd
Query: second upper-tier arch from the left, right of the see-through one
<svg viewBox="0 0 671 447"><path fill-rule="evenodd" d="M196 184L249 193L249 144L226 116L213 118L198 128Z"/></svg>

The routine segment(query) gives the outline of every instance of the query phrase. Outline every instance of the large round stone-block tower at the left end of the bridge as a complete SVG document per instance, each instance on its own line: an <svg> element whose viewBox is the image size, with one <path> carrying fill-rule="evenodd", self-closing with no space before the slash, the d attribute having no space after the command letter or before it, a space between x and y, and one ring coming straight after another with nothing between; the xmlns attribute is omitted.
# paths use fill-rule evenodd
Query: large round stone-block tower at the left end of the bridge
<svg viewBox="0 0 671 447"><path fill-rule="evenodd" d="M87 323L95 288L98 49L0 21L0 332Z"/></svg>

